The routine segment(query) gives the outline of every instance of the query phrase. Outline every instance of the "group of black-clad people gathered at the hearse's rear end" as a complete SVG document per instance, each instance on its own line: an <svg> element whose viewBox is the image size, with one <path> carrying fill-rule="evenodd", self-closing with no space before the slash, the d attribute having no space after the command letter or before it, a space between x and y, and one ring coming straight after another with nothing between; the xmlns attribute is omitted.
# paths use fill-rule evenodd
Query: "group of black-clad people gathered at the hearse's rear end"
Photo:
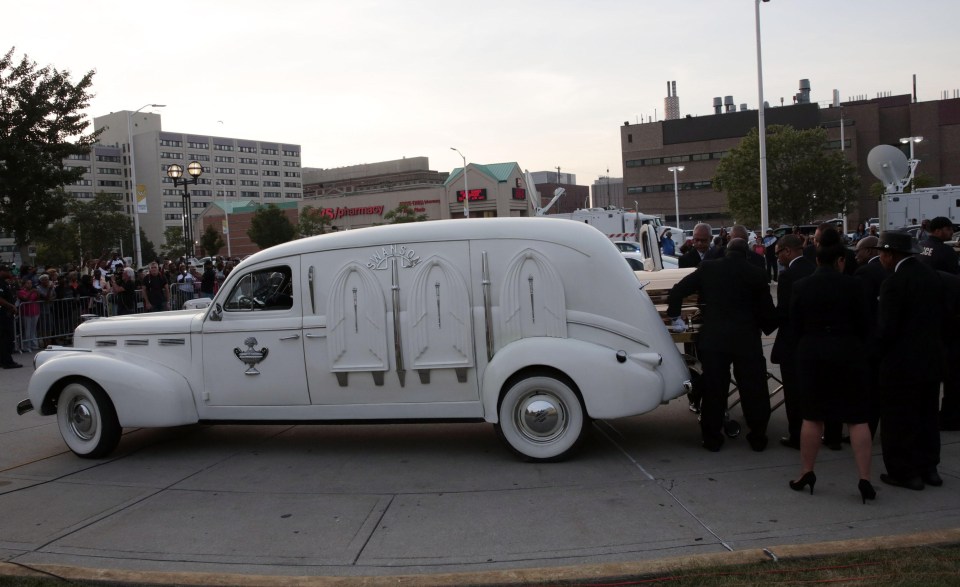
<svg viewBox="0 0 960 587"><path fill-rule="evenodd" d="M929 220L917 243L909 233L864 232L853 249L830 223L811 237L776 239L778 274L735 226L714 242L698 224L680 267L696 270L670 291L667 315L685 330L684 298L698 294L702 324L695 382L703 447L719 451L736 379L755 451L768 445L770 396L762 335L776 331L771 362L779 364L787 416L780 443L800 451L790 488L813 493L820 447L850 442L864 503L876 498L872 438L878 433L889 485L939 487L940 431L960 430L960 264L952 222ZM776 304L769 281L777 280ZM941 401L941 389L943 399ZM842 436L843 425L847 437Z"/></svg>

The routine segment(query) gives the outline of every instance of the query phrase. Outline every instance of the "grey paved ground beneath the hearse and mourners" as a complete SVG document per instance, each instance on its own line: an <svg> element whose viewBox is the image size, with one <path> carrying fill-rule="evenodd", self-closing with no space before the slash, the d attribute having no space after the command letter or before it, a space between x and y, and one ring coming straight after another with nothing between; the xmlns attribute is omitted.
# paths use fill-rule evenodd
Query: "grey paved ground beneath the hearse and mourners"
<svg viewBox="0 0 960 587"><path fill-rule="evenodd" d="M487 424L129 429L91 461L55 418L17 416L20 361L0 371L0 575L536 584L960 542L958 432L942 434L944 486L919 492L879 483L878 439L866 505L848 445L820 453L814 495L793 492L782 408L766 451L741 436L710 453L683 399L597 421L553 464L518 461Z"/></svg>

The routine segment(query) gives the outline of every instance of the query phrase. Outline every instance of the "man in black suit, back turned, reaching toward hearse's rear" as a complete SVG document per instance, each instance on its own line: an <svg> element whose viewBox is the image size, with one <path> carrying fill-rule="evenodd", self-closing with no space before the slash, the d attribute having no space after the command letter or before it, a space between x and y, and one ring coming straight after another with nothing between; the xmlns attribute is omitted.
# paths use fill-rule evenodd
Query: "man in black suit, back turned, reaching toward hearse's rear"
<svg viewBox="0 0 960 587"><path fill-rule="evenodd" d="M703 446L716 452L723 445L723 416L730 390L730 367L740 389L747 440L755 451L767 446L770 396L760 332L776 328L776 310L765 272L747 261L747 242L733 239L722 259L703 261L670 290L667 316L682 329L683 299L699 293L703 325L698 352L703 367L700 431Z"/></svg>

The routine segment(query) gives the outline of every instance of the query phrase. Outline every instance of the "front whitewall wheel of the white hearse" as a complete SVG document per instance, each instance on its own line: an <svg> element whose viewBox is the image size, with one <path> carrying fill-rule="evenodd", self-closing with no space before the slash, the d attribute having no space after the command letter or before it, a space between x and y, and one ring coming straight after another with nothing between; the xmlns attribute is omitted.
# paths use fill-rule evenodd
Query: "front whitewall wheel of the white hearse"
<svg viewBox="0 0 960 587"><path fill-rule="evenodd" d="M91 382L68 383L57 399L60 435L77 456L97 459L120 442L120 423L113 402Z"/></svg>

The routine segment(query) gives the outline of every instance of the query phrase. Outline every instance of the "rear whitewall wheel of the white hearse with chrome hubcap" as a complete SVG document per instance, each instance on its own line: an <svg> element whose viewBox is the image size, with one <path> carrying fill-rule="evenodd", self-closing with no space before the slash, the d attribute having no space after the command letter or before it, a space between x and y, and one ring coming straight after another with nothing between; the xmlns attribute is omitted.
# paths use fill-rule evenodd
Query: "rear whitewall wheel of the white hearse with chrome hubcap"
<svg viewBox="0 0 960 587"><path fill-rule="evenodd" d="M527 461L558 461L580 442L584 410L571 382L532 373L509 384L500 400L497 434Z"/></svg>

